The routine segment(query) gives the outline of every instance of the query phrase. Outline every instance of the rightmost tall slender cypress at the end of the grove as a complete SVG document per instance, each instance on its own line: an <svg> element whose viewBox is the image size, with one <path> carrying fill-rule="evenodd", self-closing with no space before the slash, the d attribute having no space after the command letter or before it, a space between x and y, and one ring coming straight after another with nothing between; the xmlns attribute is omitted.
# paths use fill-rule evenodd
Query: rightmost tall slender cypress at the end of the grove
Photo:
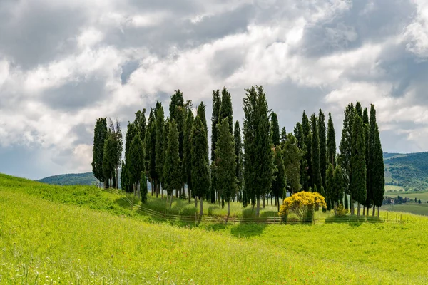
<svg viewBox="0 0 428 285"><path fill-rule="evenodd" d="M385 183L384 183L384 160L382 144L380 142L379 128L376 123L376 110L374 105L370 107L370 181L372 183L372 195L374 207L377 207L377 217L379 217L379 207L382 206ZM373 207L373 216L374 216Z"/></svg>

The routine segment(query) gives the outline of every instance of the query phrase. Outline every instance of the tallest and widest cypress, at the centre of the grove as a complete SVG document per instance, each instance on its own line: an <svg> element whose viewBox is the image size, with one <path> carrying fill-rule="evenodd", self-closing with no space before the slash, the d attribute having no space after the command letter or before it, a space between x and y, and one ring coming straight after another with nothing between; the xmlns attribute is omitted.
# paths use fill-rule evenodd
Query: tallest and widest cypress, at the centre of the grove
<svg viewBox="0 0 428 285"><path fill-rule="evenodd" d="M244 180L245 191L252 204L256 204L255 216L260 214L260 198L270 190L273 174L273 154L270 140L270 122L266 94L262 86L245 90L243 99L244 120Z"/></svg>

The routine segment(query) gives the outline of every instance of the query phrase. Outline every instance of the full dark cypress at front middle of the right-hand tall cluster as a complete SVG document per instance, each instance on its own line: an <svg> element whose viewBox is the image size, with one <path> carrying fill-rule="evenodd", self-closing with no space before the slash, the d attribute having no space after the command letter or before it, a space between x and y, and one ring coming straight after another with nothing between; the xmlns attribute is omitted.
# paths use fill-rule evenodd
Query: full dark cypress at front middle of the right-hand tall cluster
<svg viewBox="0 0 428 285"><path fill-rule="evenodd" d="M350 192L352 198L358 203L357 215L360 217L360 204L364 204L367 198L364 126L360 115L355 115L354 124L352 125L351 154L352 177Z"/></svg>

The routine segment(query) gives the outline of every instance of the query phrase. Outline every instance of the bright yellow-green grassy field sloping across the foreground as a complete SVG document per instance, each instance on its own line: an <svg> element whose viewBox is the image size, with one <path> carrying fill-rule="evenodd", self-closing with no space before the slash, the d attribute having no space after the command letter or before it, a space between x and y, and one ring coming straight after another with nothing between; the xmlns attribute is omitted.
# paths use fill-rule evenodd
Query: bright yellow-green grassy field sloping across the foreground
<svg viewBox="0 0 428 285"><path fill-rule="evenodd" d="M0 284L428 283L428 218L412 214L402 223L180 226L96 187L6 175L0 209Z"/></svg>

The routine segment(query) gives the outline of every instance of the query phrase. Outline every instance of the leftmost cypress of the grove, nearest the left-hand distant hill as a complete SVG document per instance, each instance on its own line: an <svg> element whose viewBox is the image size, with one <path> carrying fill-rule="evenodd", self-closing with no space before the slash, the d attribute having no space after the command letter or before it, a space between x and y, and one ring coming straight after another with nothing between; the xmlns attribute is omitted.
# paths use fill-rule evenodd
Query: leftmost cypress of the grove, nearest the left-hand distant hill
<svg viewBox="0 0 428 285"><path fill-rule="evenodd" d="M92 172L93 176L101 182L104 181L103 174L103 157L104 157L104 142L107 137L107 120L106 118L98 118L93 130L93 156L92 156Z"/></svg>

